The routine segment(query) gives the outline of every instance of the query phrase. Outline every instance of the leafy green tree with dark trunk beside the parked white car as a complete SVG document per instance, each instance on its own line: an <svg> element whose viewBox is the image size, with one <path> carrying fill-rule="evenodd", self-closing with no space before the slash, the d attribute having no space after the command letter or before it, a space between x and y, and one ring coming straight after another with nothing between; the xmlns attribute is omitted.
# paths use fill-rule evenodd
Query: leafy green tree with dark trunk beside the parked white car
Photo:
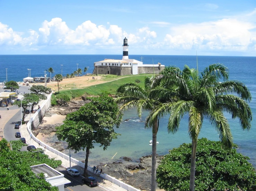
<svg viewBox="0 0 256 191"><path fill-rule="evenodd" d="M114 99L103 92L100 97L91 98L91 102L79 110L69 113L64 124L56 127L59 140L66 140L68 147L75 152L86 149L85 170L87 174L88 158L93 143L100 143L106 150L112 139L117 139L118 133L114 125L119 127L121 117L117 117L118 107Z"/></svg>

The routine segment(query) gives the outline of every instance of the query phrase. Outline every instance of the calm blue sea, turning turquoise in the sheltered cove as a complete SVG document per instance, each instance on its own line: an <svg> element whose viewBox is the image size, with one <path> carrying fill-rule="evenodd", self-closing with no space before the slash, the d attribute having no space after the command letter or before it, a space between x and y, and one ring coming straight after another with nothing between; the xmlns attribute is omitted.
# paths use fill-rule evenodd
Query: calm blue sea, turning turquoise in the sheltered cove
<svg viewBox="0 0 256 191"><path fill-rule="evenodd" d="M0 82L6 80L22 81L28 77L28 70L31 69L31 77L43 76L45 69L52 67L54 74L61 73L61 64L63 64L62 74L72 73L79 68L83 70L89 67L88 72L92 73L94 62L104 60L105 58L122 59L120 55L0 55ZM129 55L129 58L140 60L141 55ZM145 64L158 63L165 66L175 65L183 68L188 65L191 68L196 68L195 56L157 56L144 55L143 62ZM212 63L222 63L229 69L230 80L240 80L249 88L252 96L250 107L253 112L253 119L256 113L256 57L224 57L224 56L198 56L198 69L202 71L205 67ZM53 75L54 75L53 74ZM147 113L142 117L144 121ZM250 162L256 167L256 123L253 120L250 131L242 131L239 127L238 120L232 120L229 115L226 116L229 120L230 128L234 138L234 142L238 144L238 152L250 157ZM107 150L99 148L95 144L95 149L91 150L89 157L89 165L97 165L98 163L107 163L116 160L122 156L131 157L134 160L139 159L143 155L151 154L151 146L149 141L152 139L151 129L145 129L144 123L139 122L135 110L126 111L123 120L131 119L127 122L122 122L120 128L116 132L122 135L118 139L113 140ZM161 119L160 128L157 133L157 153L159 155L167 154L168 150L178 147L182 143L189 143L191 140L188 137L188 116L185 116L180 123L179 131L176 134L167 133L168 117ZM210 140L219 140L218 133L211 124L204 120L203 128L200 137L206 137ZM49 142L56 141L56 137L52 137ZM65 151L68 154L68 151ZM116 154L117 153L117 154ZM116 154L116 155L115 155ZM112 159L112 157L115 157ZM85 159L85 152L81 151L72 154L72 157L78 160Z"/></svg>

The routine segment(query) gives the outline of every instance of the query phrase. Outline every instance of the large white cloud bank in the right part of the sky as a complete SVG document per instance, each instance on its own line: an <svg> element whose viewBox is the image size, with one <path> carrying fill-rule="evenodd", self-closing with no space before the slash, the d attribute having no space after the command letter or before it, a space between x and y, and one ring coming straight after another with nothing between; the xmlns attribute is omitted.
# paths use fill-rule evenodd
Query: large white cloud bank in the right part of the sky
<svg viewBox="0 0 256 191"><path fill-rule="evenodd" d="M251 45L255 24L236 19L189 23L171 28L164 44L173 49L245 51Z"/></svg>

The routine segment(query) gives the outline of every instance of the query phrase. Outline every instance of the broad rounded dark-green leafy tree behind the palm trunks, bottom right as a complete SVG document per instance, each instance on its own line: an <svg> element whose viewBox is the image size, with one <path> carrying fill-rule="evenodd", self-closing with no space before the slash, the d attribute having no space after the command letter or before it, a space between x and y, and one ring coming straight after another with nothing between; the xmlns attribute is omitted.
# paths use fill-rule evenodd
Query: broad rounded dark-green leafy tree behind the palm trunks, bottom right
<svg viewBox="0 0 256 191"><path fill-rule="evenodd" d="M192 144L182 144L165 155L157 168L157 182L166 191L189 189ZM237 147L236 145L234 145ZM256 190L256 172L248 157L224 150L220 141L198 139L195 190Z"/></svg>

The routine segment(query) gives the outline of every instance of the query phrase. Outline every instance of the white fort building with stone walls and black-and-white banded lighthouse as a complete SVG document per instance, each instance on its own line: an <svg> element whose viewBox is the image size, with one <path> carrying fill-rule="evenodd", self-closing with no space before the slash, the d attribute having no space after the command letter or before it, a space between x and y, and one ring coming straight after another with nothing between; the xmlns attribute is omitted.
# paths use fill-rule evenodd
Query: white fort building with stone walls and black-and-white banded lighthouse
<svg viewBox="0 0 256 191"><path fill-rule="evenodd" d="M94 62L93 74L114 74L118 76L123 75L136 75L141 73L159 73L164 70L165 66L158 64L143 64L135 59L128 57L128 40L124 39L123 44L123 59L105 59L102 61Z"/></svg>

